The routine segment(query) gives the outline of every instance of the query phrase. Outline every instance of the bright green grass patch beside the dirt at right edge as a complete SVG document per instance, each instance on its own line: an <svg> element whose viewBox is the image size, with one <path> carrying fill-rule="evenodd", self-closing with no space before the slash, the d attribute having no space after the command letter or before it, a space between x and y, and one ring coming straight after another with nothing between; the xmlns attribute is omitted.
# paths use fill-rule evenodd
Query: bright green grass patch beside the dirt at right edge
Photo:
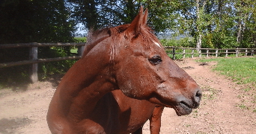
<svg viewBox="0 0 256 134"><path fill-rule="evenodd" d="M256 57L205 59L200 62L218 62L215 71L231 77L237 84L256 83Z"/></svg>

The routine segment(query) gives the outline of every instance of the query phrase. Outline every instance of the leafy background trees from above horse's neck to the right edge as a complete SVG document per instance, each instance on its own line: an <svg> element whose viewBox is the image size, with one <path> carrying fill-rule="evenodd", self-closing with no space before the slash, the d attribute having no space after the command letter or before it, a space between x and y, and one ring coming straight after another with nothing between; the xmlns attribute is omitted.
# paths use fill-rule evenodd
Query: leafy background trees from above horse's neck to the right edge
<svg viewBox="0 0 256 134"><path fill-rule="evenodd" d="M88 29L130 23L143 5L149 10L148 25L156 33L171 33L171 38L180 35L193 37L193 42L184 47L195 45L199 36L202 48L256 46L255 1L69 1L75 5L73 17ZM177 41L163 44L180 46Z"/></svg>

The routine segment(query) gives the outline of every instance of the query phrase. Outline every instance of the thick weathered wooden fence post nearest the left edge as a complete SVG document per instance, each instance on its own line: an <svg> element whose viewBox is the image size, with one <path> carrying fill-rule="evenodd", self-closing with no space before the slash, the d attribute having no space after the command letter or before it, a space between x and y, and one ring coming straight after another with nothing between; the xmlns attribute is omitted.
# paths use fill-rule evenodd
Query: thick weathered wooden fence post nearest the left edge
<svg viewBox="0 0 256 134"><path fill-rule="evenodd" d="M37 60L37 47L29 48L29 60ZM38 81L37 70L38 70L37 63L31 64L30 79L32 83L35 83Z"/></svg>

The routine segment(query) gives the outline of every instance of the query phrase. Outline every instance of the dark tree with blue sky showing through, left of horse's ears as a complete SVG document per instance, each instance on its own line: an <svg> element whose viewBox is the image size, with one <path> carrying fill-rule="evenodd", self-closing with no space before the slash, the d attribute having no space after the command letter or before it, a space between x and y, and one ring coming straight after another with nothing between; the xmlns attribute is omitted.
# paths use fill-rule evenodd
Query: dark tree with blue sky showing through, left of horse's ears
<svg viewBox="0 0 256 134"><path fill-rule="evenodd" d="M135 17L135 5L132 0L67 0L73 5L72 17L85 25L84 29L99 29L122 25Z"/></svg>

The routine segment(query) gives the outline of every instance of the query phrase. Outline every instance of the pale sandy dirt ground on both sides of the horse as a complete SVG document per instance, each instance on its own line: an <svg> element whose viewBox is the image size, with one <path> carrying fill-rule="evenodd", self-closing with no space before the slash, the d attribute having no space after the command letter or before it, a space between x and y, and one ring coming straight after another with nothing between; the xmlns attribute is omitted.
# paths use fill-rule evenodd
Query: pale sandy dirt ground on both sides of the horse
<svg viewBox="0 0 256 134"><path fill-rule="evenodd" d="M174 109L165 108L161 133L256 133L256 112L249 107L255 103L246 100L243 86L211 71L216 63L201 64L190 59L176 63L201 86L203 98L190 115L177 116ZM50 133L46 112L54 92L55 86L49 82L31 84L25 92L1 89L0 134ZM143 133L150 133L148 122Z"/></svg>

